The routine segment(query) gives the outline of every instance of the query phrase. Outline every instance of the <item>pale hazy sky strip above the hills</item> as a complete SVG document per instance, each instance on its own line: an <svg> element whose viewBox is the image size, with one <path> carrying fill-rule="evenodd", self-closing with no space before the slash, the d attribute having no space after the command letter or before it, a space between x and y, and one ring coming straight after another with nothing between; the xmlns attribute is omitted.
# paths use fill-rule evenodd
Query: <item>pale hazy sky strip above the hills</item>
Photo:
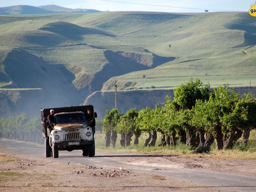
<svg viewBox="0 0 256 192"><path fill-rule="evenodd" d="M115 1L115 2L113 2ZM218 10L248 11L255 0L0 0L0 7L13 5L58 5L66 8L89 8L101 11L209 12ZM117 2L119 1L119 2ZM120 3L120 2L127 3ZM137 4L132 4L137 3ZM148 4L148 5L138 5ZM155 6L158 5L158 6ZM166 6L166 7L165 7ZM174 8L181 7L181 8ZM187 9L190 8L190 9ZM194 9L193 9L194 8ZM211 10L216 9L216 10Z"/></svg>

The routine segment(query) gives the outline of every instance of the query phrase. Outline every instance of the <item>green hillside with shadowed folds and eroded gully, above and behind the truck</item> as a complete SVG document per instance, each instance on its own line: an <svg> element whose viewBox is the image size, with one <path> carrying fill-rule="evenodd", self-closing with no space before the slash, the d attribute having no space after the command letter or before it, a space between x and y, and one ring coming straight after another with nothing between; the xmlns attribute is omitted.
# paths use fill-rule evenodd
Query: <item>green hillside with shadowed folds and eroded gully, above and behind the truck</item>
<svg viewBox="0 0 256 192"><path fill-rule="evenodd" d="M27 17L21 21L19 17L17 21L12 17L9 23L7 17L2 17L5 22L0 28L0 41L4 46L19 47L51 64L63 64L75 76L73 85L84 97L101 90L110 77L156 67L174 59L123 45L115 34L104 30L64 21L77 17L83 15L54 15L51 19Z"/></svg>

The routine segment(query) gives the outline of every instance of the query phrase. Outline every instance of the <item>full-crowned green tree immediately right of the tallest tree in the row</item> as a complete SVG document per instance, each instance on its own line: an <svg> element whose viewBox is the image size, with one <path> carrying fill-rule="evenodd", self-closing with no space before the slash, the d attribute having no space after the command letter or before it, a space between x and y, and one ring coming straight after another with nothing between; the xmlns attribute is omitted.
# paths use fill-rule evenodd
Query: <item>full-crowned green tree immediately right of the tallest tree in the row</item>
<svg viewBox="0 0 256 192"><path fill-rule="evenodd" d="M196 102L193 125L204 127L216 141L217 149L230 149L242 135L241 124L247 119L244 99L229 86L219 86L210 94L210 99ZM197 121L195 120L197 119Z"/></svg>

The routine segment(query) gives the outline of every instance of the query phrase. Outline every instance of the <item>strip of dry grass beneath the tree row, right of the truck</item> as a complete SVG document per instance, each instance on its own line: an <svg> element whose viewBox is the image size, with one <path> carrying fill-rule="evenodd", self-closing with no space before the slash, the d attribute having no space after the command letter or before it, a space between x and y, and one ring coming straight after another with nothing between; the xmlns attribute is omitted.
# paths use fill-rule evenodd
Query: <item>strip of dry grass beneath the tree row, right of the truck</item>
<svg viewBox="0 0 256 192"><path fill-rule="evenodd" d="M95 146L96 151L119 151L119 152L136 152L144 154L162 154L162 155L179 155L183 157L205 157L214 159L256 159L256 130L251 131L248 144L241 144L242 140L238 140L231 150L216 150L215 144L211 146L209 153L195 153L195 149L177 142L175 147L158 147L161 141L161 135L158 134L155 147L144 147L144 142L147 138L147 134L142 134L139 137L139 144L134 145L131 142L129 147L121 147L119 140L120 135L116 142L116 147L105 147L104 138L105 134L95 134ZM134 139L134 138L132 138Z"/></svg>

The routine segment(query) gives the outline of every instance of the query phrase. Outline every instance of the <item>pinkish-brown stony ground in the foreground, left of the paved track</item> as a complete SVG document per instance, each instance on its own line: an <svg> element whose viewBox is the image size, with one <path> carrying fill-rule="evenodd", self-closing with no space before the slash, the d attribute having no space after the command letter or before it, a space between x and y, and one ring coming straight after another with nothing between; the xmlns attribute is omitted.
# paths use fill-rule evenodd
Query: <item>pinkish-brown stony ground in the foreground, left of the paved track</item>
<svg viewBox="0 0 256 192"><path fill-rule="evenodd" d="M0 191L186 191L185 186L193 186L161 175L130 172L122 167L104 169L6 153L0 159L10 157L18 159L0 163Z"/></svg>

